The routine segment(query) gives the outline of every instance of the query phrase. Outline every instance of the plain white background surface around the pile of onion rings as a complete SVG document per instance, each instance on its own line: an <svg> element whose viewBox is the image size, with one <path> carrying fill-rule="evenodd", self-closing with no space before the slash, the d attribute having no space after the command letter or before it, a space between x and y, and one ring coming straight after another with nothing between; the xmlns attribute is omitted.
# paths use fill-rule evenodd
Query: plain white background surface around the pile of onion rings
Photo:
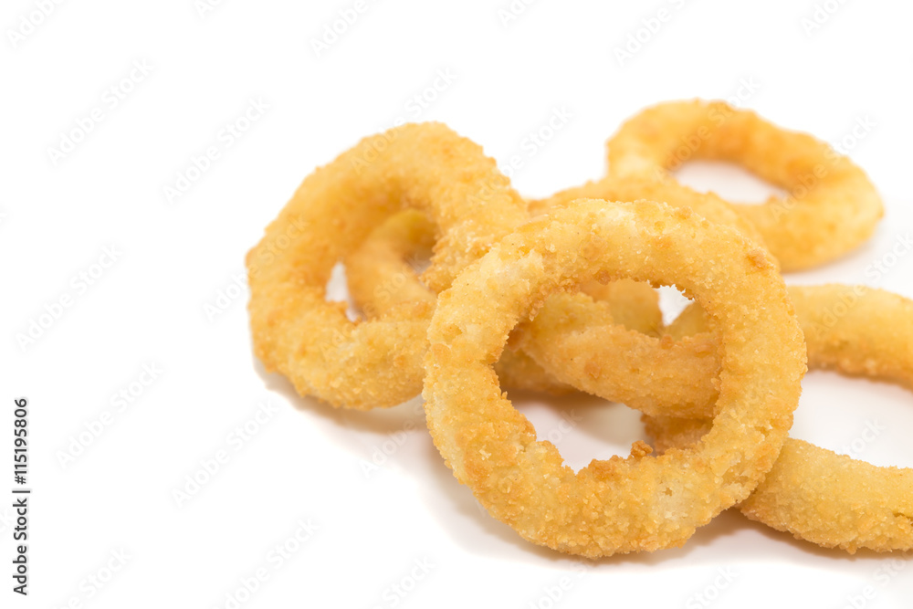
<svg viewBox="0 0 913 609"><path fill-rule="evenodd" d="M370 1L318 57L312 40L354 0L226 0L202 15L194 0L142 8L83 0L53 5L29 29L22 19L37 21L37 4L7 0L0 11L2 394L10 415L14 397L29 400L34 488L27 598L10 592L12 513L0 502L0 606L234 606L226 594L261 568L268 580L249 599L241 593L241 606L838 608L866 586L876 596L855 599L859 606L909 606L913 567L902 562L885 577L899 556L821 550L734 511L682 549L575 571L576 562L521 541L477 507L437 455L417 404L334 410L263 373L250 348L247 293L232 286L304 176L397 118L446 121L501 162L522 155L514 182L533 196L600 176L604 140L646 105L740 94L740 105L828 142L842 142L856 121L874 122L848 148L886 201L876 237L833 265L787 277L872 283L866 267L913 229L913 5L832 1L833 15L819 13L824 23L809 30L810 0L540 0L506 22L498 11L509 0ZM615 49L660 9L666 21L640 32L645 42L620 62ZM131 90L112 107L106 91L131 78L134 62L151 71L132 71L122 85ZM453 82L415 110L410 100L439 70ZM250 100L268 110L226 145L220 131ZM93 109L101 121L52 158L49 149ZM531 155L528 134L562 109L571 118ZM169 201L164 187L209 146L219 158ZM756 200L766 192L714 166L688 167L683 179ZM92 271L105 247L117 260L78 287L73 278ZM913 297L911 277L908 255L876 283ZM16 335L64 296L71 306L20 345ZM205 307L217 301L226 310L210 320ZM112 395L129 392L144 364L163 373L119 412ZM862 456L913 467L906 390L831 373L810 373L804 387L794 436L840 450L877 422L886 429ZM236 443L233 430L263 403L268 420ZM573 467L626 454L643 435L622 405L583 397L519 405L540 436L562 413L578 421L558 443ZM105 411L110 425L61 464ZM6 460L11 435L0 436ZM366 475L363 464L384 442L393 454ZM227 462L179 507L173 491L220 450ZM3 479L7 496L13 483ZM281 564L271 560L299 521L318 529ZM108 579L112 551L129 558ZM413 586L416 561L428 572L415 571L422 578ZM99 589L89 576L108 581ZM564 577L566 590L551 601ZM410 591L396 595L397 584Z"/></svg>

